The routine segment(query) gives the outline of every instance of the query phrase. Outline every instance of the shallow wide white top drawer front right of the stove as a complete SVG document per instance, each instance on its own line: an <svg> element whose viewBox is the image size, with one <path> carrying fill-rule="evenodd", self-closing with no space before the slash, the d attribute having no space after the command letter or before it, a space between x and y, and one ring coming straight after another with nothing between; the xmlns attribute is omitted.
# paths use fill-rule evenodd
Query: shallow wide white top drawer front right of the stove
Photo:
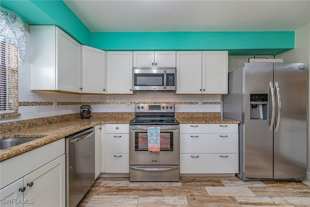
<svg viewBox="0 0 310 207"><path fill-rule="evenodd" d="M238 124L180 124L180 133L238 133Z"/></svg>

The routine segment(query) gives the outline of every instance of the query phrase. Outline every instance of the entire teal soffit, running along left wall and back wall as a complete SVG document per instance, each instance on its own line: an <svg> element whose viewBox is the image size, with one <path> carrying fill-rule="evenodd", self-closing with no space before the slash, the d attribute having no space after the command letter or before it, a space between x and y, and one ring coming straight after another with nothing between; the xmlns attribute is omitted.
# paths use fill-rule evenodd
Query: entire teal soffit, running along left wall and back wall
<svg viewBox="0 0 310 207"><path fill-rule="evenodd" d="M30 25L56 25L80 44L105 50L228 50L229 55L279 54L293 49L294 31L90 32L62 0L0 0Z"/></svg>

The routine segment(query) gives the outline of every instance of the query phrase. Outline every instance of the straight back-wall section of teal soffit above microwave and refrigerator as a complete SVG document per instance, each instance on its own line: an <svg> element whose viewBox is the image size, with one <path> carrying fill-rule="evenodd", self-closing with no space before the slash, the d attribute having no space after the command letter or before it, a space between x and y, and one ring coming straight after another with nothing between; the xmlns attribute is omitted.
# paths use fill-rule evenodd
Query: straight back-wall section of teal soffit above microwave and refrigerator
<svg viewBox="0 0 310 207"><path fill-rule="evenodd" d="M93 32L105 50L229 50L230 55L279 54L294 48L294 32Z"/></svg>

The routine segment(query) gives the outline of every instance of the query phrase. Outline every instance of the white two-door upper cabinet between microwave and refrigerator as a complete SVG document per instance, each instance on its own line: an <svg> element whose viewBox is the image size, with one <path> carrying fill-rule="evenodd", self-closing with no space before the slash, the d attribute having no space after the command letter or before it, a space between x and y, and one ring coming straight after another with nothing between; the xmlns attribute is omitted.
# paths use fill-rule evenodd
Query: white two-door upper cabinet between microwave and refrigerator
<svg viewBox="0 0 310 207"><path fill-rule="evenodd" d="M228 51L178 51L176 94L227 94Z"/></svg>

